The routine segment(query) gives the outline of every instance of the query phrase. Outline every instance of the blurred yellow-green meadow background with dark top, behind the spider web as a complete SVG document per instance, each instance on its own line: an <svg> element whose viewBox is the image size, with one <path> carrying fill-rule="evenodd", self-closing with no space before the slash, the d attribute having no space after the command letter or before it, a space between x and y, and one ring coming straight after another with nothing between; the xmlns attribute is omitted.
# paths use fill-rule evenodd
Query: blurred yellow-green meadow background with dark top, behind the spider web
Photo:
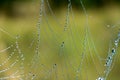
<svg viewBox="0 0 120 80"><path fill-rule="evenodd" d="M0 1L0 50L15 44L15 37L20 36L18 43L25 57L25 76L36 75L35 80L77 80L77 77L78 80L95 80L99 77L99 73L104 74L110 40L113 46L119 31L120 1L84 0L88 23L80 1L71 2L72 12L69 12L67 31L64 31L64 26L68 2L49 0L54 14L45 4L43 8L45 12L39 25L40 43L38 44L40 0ZM89 27L87 32L86 26ZM113 26L116 27L112 28ZM35 53L37 46L39 46L39 54ZM14 49L15 46L0 53L1 64L8 59ZM0 66L0 70L6 69L15 62L16 56L17 53L5 65ZM19 68L19 63L10 70L0 73L0 77L14 73ZM119 67L118 48L107 80L119 80Z"/></svg>

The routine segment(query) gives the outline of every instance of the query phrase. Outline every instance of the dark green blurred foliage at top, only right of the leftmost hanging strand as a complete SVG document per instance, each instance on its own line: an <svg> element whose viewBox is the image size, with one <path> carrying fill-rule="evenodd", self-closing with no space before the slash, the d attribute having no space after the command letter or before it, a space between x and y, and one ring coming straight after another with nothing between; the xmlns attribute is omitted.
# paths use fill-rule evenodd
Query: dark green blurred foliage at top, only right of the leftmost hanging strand
<svg viewBox="0 0 120 80"><path fill-rule="evenodd" d="M87 8L101 8L111 3L120 3L120 0L82 0ZM80 0L71 0L72 6L79 9L81 8ZM67 4L68 0L51 0L51 5L54 9L62 7Z"/></svg>

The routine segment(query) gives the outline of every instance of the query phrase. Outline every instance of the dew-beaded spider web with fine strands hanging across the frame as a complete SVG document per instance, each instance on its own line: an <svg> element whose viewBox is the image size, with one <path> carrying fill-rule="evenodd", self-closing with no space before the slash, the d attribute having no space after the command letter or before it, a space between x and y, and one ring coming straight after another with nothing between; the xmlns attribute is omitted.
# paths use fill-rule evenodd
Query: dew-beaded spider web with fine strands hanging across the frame
<svg viewBox="0 0 120 80"><path fill-rule="evenodd" d="M116 56L119 52L119 23L98 28L102 32L96 39L92 35L85 3L79 1L82 13L76 14L71 0L67 2L64 16L58 14L58 17L50 1L41 0L36 31L27 47L31 56L29 62L23 54L26 51L19 46L24 45L20 43L21 37L14 38L0 28L13 39L10 46L0 50L0 80L107 80L114 75L109 76L119 58ZM84 18L76 20L81 15ZM103 42L100 47L95 45L99 41Z"/></svg>

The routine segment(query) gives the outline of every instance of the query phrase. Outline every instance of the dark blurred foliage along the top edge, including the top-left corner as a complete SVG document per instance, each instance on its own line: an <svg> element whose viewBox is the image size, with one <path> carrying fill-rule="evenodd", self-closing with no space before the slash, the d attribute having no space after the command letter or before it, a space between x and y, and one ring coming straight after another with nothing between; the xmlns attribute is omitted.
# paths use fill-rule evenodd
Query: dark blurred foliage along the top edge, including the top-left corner
<svg viewBox="0 0 120 80"><path fill-rule="evenodd" d="M0 0L0 12L5 12L7 16L14 16L16 3L26 3L32 0ZM35 0L37 1L37 0ZM48 0L53 10L59 10L59 8L65 7L68 4L68 0ZM101 8L109 3L120 3L120 0L82 0L86 8ZM72 6L74 8L82 9L80 5L80 0L71 0Z"/></svg>

